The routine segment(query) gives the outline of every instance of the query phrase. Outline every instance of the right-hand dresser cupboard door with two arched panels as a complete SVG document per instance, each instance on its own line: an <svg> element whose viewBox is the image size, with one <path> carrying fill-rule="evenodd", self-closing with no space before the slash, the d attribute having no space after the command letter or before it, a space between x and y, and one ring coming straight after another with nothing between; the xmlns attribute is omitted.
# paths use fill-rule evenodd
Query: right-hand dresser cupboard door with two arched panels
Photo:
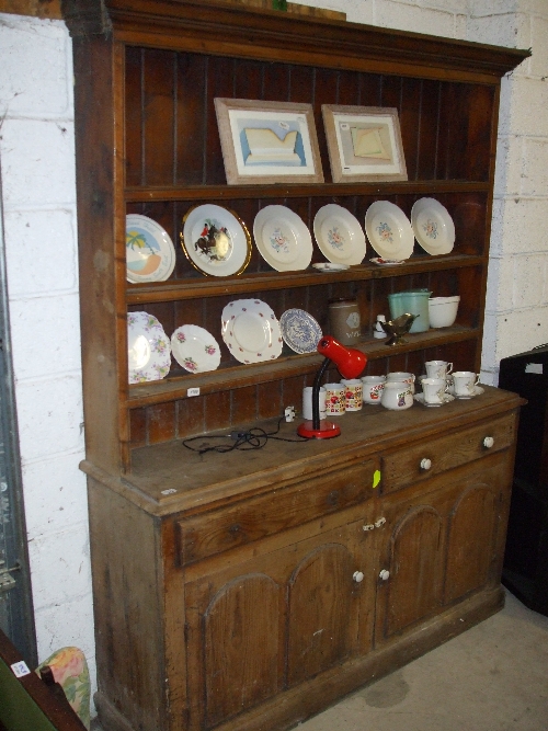
<svg viewBox="0 0 548 731"><path fill-rule="evenodd" d="M386 498L376 643L500 581L510 470L504 452Z"/></svg>

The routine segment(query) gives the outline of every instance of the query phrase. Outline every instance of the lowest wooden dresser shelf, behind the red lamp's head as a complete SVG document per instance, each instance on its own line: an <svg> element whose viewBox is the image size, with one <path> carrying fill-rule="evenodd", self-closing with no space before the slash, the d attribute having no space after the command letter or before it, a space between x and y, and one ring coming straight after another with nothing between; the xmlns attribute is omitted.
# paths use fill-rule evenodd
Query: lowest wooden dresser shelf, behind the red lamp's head
<svg viewBox="0 0 548 731"><path fill-rule="evenodd" d="M429 330L427 332L406 335L406 343L397 346L386 345L385 340L367 340L357 343L355 347L367 354L369 361L386 358L421 351L437 345L460 343L480 336L480 331L472 328L453 325L452 328ZM199 387L199 395L215 393L227 389L244 388L265 384L281 378L292 378L315 373L322 363L321 355L283 355L276 361L258 363L255 365L236 365L203 374L189 374L164 380L138 384L129 387L126 407L136 409L155 403L163 403L189 398L190 388ZM194 398L194 397L190 397Z"/></svg>

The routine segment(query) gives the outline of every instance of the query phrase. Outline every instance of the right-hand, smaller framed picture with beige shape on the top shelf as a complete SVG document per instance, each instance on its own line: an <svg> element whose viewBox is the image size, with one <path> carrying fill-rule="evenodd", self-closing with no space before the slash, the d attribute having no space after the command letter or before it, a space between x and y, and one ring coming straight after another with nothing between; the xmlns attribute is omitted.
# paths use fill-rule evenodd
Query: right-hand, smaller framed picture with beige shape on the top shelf
<svg viewBox="0 0 548 731"><path fill-rule="evenodd" d="M407 180L398 110L322 104L333 183Z"/></svg>

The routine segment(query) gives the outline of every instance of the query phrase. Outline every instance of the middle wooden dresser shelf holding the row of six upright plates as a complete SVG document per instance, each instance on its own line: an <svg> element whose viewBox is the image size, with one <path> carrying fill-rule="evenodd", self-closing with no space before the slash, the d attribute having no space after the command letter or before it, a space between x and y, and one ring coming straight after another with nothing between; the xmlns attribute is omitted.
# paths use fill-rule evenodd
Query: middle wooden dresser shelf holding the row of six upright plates
<svg viewBox="0 0 548 731"><path fill-rule="evenodd" d="M370 252L373 253L373 252ZM128 305L146 302L167 302L195 297L218 297L241 295L253 292L286 289L288 287L308 287L331 282L361 282L364 279L384 279L387 277L436 272L448 269L464 269L484 264L482 256L448 254L444 256L413 256L398 266L376 266L361 264L344 272L318 272L308 269L304 272L262 272L244 274L239 277L203 279L189 278L157 284L134 284L126 290Z"/></svg>

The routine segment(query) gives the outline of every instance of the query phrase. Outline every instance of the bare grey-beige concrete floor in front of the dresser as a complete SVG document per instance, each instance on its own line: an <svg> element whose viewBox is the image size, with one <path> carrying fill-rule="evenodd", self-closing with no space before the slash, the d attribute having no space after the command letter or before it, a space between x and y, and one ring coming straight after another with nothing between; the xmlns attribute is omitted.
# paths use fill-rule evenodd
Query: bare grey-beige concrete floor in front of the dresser
<svg viewBox="0 0 548 731"><path fill-rule="evenodd" d="M548 617L506 593L499 614L297 729L548 731Z"/></svg>

